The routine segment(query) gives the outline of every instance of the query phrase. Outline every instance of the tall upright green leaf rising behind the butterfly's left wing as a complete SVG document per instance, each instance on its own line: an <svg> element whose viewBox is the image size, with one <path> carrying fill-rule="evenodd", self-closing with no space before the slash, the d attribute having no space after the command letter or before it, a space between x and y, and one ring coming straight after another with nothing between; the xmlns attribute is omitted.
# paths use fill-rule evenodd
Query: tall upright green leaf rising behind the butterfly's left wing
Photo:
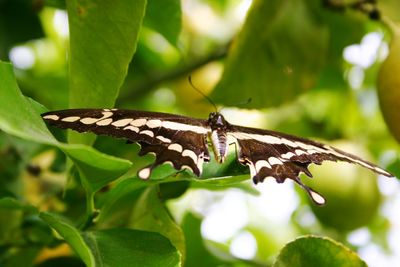
<svg viewBox="0 0 400 267"><path fill-rule="evenodd" d="M114 106L136 50L146 0L67 1L70 107ZM72 142L94 138L71 134Z"/></svg>

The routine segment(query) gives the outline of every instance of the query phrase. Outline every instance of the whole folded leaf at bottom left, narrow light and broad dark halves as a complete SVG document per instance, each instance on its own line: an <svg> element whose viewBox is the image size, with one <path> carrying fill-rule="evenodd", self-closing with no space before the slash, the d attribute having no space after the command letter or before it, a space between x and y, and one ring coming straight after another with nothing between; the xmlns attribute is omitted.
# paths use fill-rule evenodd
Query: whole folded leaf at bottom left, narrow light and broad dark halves
<svg viewBox="0 0 400 267"><path fill-rule="evenodd" d="M157 233L121 228L81 233L55 214L41 213L40 217L88 267L180 266L178 251Z"/></svg>

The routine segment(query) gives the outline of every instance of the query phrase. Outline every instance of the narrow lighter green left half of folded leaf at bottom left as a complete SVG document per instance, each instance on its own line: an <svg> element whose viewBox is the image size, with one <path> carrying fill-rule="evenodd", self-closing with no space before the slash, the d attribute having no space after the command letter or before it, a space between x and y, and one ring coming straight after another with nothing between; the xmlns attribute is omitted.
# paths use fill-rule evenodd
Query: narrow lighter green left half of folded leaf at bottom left
<svg viewBox="0 0 400 267"><path fill-rule="evenodd" d="M81 233L70 223L49 212L42 212L39 217L54 228L71 248L79 255L86 266L95 266L95 259L89 246L85 243Z"/></svg>

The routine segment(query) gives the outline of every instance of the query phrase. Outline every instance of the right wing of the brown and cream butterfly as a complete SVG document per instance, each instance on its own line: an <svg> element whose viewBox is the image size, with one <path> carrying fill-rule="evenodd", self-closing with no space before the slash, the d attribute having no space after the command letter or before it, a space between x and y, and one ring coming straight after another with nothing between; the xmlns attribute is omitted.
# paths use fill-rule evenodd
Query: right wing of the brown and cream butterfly
<svg viewBox="0 0 400 267"><path fill-rule="evenodd" d="M324 204L325 199L304 185L299 178L301 172L312 177L307 168L311 163L321 164L324 160L346 161L388 177L393 176L357 156L288 134L232 125L228 135L237 140L238 160L249 166L255 183L262 182L269 176L274 177L279 183L287 178L292 179L303 187L317 204Z"/></svg>

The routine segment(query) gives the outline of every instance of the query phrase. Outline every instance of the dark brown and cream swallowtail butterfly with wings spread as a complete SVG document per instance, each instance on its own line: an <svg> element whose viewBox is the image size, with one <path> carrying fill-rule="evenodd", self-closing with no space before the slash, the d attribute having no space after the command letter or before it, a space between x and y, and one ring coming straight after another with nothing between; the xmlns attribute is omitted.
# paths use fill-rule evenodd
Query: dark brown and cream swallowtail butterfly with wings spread
<svg viewBox="0 0 400 267"><path fill-rule="evenodd" d="M177 170L190 169L200 176L203 163L210 161L207 140L211 140L216 160L222 163L228 153L228 137L237 143L238 161L249 166L255 184L269 176L278 183L289 178L320 205L325 199L299 178L301 172L312 177L307 168L310 163L347 161L392 177L378 166L331 146L284 133L233 125L218 112L211 113L208 120L123 109L69 109L47 112L42 117L59 128L139 143L139 155L156 155L153 164L138 172L141 179L148 179L151 171L163 163L170 163Z"/></svg>

